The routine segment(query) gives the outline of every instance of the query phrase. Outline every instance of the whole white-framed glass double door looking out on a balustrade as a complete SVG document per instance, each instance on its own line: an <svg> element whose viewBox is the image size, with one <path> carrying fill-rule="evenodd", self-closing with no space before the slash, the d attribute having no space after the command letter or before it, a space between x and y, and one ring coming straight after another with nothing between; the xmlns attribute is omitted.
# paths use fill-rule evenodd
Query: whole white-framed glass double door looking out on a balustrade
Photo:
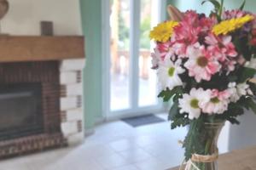
<svg viewBox="0 0 256 170"><path fill-rule="evenodd" d="M150 69L152 42L148 34L166 14L166 4L163 0L108 0L104 5L103 36L107 43L102 43L106 61L102 89L107 117L160 111L156 74Z"/></svg>

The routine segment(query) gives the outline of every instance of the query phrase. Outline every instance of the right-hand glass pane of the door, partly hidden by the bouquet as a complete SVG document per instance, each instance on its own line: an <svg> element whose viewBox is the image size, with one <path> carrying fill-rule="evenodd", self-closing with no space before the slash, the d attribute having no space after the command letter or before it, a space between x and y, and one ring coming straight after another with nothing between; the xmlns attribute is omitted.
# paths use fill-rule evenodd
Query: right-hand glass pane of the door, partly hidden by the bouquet
<svg viewBox="0 0 256 170"><path fill-rule="evenodd" d="M156 0L141 0L140 47L139 47L139 106L157 105L156 74L150 69L151 58L149 31L158 19ZM154 4L155 3L155 4ZM153 8L154 7L154 8Z"/></svg>

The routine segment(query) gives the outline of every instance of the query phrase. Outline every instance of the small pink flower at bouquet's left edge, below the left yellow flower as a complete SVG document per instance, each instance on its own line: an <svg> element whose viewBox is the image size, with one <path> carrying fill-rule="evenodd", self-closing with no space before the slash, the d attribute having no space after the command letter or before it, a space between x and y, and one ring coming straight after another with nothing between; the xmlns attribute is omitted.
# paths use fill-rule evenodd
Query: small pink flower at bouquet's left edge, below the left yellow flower
<svg viewBox="0 0 256 170"><path fill-rule="evenodd" d="M164 43L158 43L156 47L160 52L160 58L164 60L165 58L171 58L174 60L174 52L172 49L172 42L164 42Z"/></svg>

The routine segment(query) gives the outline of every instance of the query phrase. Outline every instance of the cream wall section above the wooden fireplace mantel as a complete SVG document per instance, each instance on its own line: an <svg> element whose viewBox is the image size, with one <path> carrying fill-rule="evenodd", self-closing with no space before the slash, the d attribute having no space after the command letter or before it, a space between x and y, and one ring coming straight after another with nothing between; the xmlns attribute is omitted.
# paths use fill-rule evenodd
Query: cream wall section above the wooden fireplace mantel
<svg viewBox="0 0 256 170"><path fill-rule="evenodd" d="M79 0L9 0L2 33L40 35L40 21L54 22L55 35L82 35Z"/></svg>

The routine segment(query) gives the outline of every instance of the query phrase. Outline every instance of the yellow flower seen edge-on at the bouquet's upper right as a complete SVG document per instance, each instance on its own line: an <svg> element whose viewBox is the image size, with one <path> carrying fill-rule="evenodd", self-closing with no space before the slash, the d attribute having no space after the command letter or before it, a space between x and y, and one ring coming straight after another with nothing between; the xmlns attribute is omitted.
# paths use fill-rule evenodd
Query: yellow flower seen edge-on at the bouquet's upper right
<svg viewBox="0 0 256 170"><path fill-rule="evenodd" d="M241 28L247 22L253 20L254 17L252 15L247 14L241 18L235 18L231 20L224 20L220 22L218 25L214 26L212 32L218 36L220 34L227 35L231 31L236 31L236 29Z"/></svg>

